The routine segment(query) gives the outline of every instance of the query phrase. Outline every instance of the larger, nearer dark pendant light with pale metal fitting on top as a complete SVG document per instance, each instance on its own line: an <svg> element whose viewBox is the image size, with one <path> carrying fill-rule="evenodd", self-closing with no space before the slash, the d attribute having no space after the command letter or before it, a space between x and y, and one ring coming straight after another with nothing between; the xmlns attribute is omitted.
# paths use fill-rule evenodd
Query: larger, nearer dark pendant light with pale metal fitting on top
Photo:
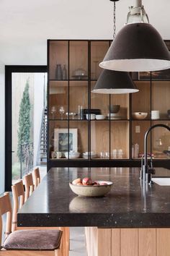
<svg viewBox="0 0 170 256"><path fill-rule="evenodd" d="M169 50L158 31L148 23L141 0L135 0L135 6L130 7L127 25L117 34L99 67L126 72L170 68Z"/></svg>

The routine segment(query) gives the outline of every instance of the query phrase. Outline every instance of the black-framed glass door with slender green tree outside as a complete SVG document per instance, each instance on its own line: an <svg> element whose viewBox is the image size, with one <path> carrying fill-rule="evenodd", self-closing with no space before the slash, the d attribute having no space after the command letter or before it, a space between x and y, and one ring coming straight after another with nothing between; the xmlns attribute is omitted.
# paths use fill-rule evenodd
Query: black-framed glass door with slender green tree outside
<svg viewBox="0 0 170 256"><path fill-rule="evenodd" d="M6 67L6 189L35 166L47 172L46 67Z"/></svg>

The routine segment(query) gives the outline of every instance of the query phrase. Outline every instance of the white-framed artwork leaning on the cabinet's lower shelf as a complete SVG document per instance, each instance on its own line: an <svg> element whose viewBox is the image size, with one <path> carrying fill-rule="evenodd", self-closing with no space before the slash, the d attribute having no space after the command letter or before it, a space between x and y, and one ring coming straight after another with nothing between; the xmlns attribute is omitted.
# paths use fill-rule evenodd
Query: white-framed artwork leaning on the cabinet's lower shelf
<svg viewBox="0 0 170 256"><path fill-rule="evenodd" d="M69 151L77 152L77 135L78 129L69 129ZM68 129L54 129L54 150L59 152L68 152Z"/></svg>

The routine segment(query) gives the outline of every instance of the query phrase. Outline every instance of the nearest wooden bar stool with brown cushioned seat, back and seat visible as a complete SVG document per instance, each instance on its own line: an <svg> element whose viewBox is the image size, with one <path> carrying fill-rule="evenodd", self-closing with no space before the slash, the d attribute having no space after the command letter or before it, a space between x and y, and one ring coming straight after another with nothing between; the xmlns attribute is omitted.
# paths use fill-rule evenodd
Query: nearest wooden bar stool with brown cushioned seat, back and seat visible
<svg viewBox="0 0 170 256"><path fill-rule="evenodd" d="M6 239L0 249L3 256L63 256L61 246L62 231L55 230L19 230L11 232L12 205L9 192L0 197L0 243L2 218L6 213Z"/></svg>

